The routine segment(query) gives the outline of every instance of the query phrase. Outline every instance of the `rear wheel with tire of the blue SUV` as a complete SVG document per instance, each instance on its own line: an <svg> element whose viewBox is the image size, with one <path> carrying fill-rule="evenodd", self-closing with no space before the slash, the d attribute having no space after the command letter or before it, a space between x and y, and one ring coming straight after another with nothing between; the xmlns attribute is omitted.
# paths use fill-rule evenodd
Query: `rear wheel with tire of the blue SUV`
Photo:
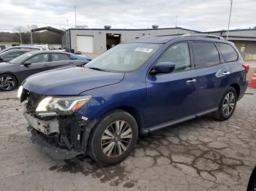
<svg viewBox="0 0 256 191"><path fill-rule="evenodd" d="M217 120L229 119L236 109L237 93L233 87L229 87L222 96L219 104L219 109L213 113Z"/></svg>

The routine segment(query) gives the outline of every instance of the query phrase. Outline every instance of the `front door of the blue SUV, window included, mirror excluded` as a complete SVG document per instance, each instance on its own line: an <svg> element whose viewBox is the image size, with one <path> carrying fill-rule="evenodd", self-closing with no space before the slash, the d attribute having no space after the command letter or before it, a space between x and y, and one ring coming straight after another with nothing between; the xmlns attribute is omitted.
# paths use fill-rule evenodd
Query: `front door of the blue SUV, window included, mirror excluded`
<svg viewBox="0 0 256 191"><path fill-rule="evenodd" d="M195 113L197 74L190 60L188 42L169 47L157 62L172 62L176 68L170 74L148 74L147 126L189 117Z"/></svg>

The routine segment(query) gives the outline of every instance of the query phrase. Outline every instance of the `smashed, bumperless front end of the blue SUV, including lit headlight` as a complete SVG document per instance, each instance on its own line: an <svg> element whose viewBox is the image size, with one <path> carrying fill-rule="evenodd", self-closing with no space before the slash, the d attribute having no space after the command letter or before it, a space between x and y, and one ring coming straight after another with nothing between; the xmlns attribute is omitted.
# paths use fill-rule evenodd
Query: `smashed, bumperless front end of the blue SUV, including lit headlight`
<svg viewBox="0 0 256 191"><path fill-rule="evenodd" d="M64 100L27 92L24 116L29 122L31 140L37 139L37 143L47 147L47 150L54 155L86 154L89 133L96 121L76 113L74 108L77 109L81 104L85 104L84 101L88 99L89 97L81 96ZM67 158L67 155L66 157L59 155L59 158Z"/></svg>

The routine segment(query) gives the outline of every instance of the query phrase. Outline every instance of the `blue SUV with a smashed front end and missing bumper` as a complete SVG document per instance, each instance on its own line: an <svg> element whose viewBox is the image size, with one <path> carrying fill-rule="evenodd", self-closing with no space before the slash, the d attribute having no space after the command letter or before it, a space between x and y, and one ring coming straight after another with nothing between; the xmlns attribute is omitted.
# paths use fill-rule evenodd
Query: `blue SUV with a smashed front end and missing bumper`
<svg viewBox="0 0 256 191"><path fill-rule="evenodd" d="M212 113L227 120L243 97L244 64L219 36L150 36L118 44L84 68L33 75L18 90L31 139L49 155L124 160L139 134Z"/></svg>

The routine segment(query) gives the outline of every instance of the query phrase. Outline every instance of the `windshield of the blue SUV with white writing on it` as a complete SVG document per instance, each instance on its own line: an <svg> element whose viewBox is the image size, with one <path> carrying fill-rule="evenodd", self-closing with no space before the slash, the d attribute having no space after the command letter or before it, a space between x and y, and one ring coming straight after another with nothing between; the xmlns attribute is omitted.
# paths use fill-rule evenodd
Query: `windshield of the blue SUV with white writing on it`
<svg viewBox="0 0 256 191"><path fill-rule="evenodd" d="M118 44L86 64L87 69L103 71L133 71L140 68L161 44L130 43Z"/></svg>

